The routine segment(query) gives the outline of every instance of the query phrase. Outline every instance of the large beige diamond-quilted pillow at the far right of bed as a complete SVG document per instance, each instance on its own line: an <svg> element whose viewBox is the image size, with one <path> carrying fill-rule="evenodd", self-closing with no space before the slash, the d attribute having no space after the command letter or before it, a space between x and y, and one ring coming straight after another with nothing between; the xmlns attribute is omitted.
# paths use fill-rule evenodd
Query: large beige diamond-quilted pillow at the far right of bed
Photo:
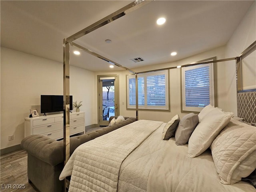
<svg viewBox="0 0 256 192"><path fill-rule="evenodd" d="M211 149L220 182L234 184L256 168L256 127L232 118Z"/></svg>

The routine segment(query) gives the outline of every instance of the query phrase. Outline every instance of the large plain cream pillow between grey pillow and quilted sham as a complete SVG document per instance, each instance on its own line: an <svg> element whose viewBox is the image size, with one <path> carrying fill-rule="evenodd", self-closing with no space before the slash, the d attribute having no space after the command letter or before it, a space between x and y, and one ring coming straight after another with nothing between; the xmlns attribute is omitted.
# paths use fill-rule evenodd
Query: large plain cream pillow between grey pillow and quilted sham
<svg viewBox="0 0 256 192"><path fill-rule="evenodd" d="M198 123L188 140L188 157L194 158L210 147L220 131L228 124L233 113L219 108L211 109Z"/></svg>

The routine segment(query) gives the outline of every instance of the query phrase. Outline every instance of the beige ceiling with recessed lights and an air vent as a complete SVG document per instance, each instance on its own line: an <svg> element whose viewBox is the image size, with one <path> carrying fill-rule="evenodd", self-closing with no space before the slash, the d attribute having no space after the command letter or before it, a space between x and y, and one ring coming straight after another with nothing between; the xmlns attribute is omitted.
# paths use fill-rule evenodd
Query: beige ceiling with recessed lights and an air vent
<svg viewBox="0 0 256 192"><path fill-rule="evenodd" d="M126 6L128 0L0 1L1 46L63 62L63 39ZM174 62L225 45L254 1L155 0L74 42L122 66ZM166 23L156 24L159 17ZM105 40L110 39L111 43ZM120 70L70 49L70 65ZM170 56L171 52L176 56ZM142 62L131 59L141 57Z"/></svg>

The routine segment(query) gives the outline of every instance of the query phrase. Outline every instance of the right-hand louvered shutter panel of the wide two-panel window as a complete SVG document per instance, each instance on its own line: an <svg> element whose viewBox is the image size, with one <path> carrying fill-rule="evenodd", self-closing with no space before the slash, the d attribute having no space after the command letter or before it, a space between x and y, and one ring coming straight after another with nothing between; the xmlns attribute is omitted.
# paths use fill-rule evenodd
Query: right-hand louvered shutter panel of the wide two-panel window
<svg viewBox="0 0 256 192"><path fill-rule="evenodd" d="M166 105L166 83L165 75L147 76L147 105Z"/></svg>

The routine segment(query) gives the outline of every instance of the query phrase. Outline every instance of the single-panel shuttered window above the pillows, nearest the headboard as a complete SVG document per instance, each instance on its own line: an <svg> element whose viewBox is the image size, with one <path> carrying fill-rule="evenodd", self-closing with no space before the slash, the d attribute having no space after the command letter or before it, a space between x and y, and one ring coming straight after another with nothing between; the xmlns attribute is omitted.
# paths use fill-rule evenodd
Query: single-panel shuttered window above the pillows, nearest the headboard
<svg viewBox="0 0 256 192"><path fill-rule="evenodd" d="M208 60L209 61L209 60ZM214 64L182 68L182 110L200 112L214 106Z"/></svg>

